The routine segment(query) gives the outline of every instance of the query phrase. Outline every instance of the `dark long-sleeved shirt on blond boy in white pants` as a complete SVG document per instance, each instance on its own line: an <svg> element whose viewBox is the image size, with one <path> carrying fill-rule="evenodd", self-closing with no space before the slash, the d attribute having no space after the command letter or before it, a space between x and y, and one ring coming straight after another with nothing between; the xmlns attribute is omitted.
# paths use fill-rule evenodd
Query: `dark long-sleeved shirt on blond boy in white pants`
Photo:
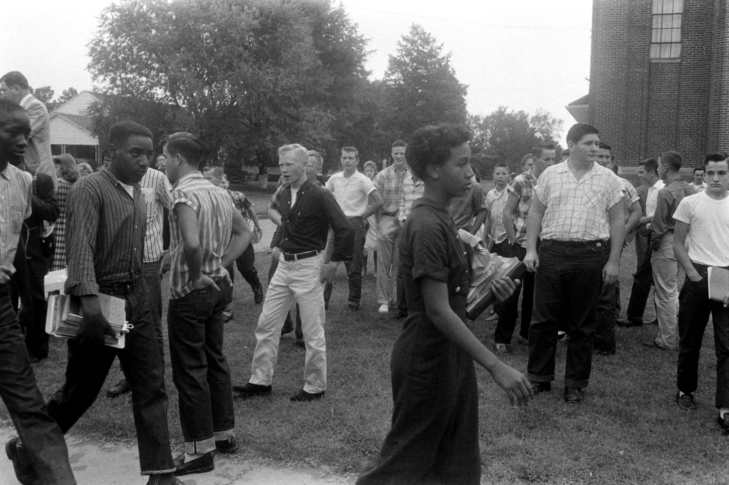
<svg viewBox="0 0 729 485"><path fill-rule="evenodd" d="M276 195L281 212L281 244L284 252L322 251L327 233L334 231L332 261L350 261L354 247L354 228L342 212L334 195L307 180L297 191L291 206L291 187L284 185Z"/></svg>

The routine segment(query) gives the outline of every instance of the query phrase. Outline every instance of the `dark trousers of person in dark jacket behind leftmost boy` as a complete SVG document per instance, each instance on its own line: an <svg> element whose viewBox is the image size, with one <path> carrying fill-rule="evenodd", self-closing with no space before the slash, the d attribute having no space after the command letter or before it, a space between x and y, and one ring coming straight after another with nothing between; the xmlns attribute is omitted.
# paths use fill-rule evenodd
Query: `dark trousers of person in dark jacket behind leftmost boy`
<svg viewBox="0 0 729 485"><path fill-rule="evenodd" d="M28 288L31 292L33 311L27 314L21 312L19 317L20 328L26 334L26 348L28 354L44 359L48 357L48 337L45 331L46 312L48 302L45 299L45 276L36 276L28 265ZM17 288L11 287L13 306L17 311ZM27 316L27 317L23 317Z"/></svg>

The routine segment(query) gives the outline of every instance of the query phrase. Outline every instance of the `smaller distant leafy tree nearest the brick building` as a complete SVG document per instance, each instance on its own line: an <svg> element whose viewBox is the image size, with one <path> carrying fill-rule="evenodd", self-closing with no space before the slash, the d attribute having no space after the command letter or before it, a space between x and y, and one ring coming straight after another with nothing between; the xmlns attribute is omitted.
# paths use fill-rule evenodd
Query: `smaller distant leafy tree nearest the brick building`
<svg viewBox="0 0 729 485"><path fill-rule="evenodd" d="M508 111L506 106L486 116L471 115L471 147L479 169L491 173L495 163L506 163L512 171L521 169L521 158L537 144L557 145L555 136L561 131L562 120L538 110L534 115L524 111Z"/></svg>

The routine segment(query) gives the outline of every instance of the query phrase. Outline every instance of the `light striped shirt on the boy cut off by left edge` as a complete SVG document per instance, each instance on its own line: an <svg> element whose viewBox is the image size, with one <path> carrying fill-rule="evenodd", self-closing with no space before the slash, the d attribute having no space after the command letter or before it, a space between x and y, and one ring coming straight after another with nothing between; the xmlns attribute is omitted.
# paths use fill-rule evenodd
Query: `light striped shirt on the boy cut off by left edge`
<svg viewBox="0 0 729 485"><path fill-rule="evenodd" d="M9 281L20 241L23 220L31 216L31 184L33 177L20 168L7 164L0 172L0 283Z"/></svg>

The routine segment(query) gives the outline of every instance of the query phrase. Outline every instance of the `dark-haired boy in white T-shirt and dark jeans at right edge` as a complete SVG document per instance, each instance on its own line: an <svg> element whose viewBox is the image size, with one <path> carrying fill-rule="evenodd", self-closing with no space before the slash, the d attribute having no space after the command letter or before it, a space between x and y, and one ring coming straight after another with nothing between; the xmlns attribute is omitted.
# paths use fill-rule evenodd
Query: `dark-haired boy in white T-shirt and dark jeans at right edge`
<svg viewBox="0 0 729 485"><path fill-rule="evenodd" d="M676 401L682 409L695 409L698 357L709 313L714 322L717 354L717 422L729 433L729 294L709 298L707 269L729 268L729 155L710 153L703 160L706 190L685 197L674 213L674 253L686 271L679 295L679 360ZM688 235L689 248L686 249Z"/></svg>

